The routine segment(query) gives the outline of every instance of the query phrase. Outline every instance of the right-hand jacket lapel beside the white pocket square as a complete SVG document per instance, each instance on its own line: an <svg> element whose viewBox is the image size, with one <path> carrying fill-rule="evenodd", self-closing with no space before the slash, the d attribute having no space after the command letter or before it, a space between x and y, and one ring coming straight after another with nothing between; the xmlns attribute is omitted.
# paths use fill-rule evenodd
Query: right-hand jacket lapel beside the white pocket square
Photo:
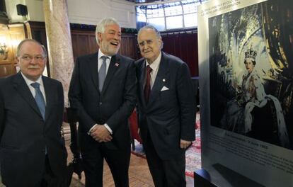
<svg viewBox="0 0 293 187"><path fill-rule="evenodd" d="M163 87L163 85L165 84L165 81L167 81L168 77L168 60L166 59L165 55L163 54L163 52L161 53L161 62L159 65L159 70L158 70L158 74L156 74L156 79L154 81L154 85L153 88L151 89L151 93L149 95L149 103L148 106L151 106L151 103L154 102L156 100L156 98L158 98L159 93Z"/></svg>

